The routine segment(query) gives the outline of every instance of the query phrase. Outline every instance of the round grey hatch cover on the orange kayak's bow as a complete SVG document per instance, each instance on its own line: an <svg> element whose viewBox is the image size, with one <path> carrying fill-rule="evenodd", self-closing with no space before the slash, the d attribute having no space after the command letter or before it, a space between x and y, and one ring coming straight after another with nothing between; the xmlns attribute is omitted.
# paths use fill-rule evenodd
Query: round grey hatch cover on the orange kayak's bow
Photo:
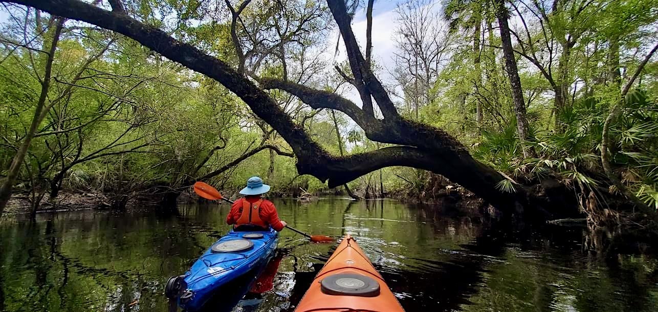
<svg viewBox="0 0 658 312"><path fill-rule="evenodd" d="M320 282L324 294L376 297L379 296L379 283L359 274L334 274L327 276Z"/></svg>

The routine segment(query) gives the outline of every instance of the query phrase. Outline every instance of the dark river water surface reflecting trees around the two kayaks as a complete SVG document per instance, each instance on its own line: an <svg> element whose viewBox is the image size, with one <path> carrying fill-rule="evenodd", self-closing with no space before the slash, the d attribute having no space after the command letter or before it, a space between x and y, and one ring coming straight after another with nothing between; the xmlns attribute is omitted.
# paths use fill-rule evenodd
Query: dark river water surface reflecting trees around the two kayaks
<svg viewBox="0 0 658 312"><path fill-rule="evenodd" d="M582 230L508 232L395 201L275 201L313 234L356 236L407 311L658 311L658 261L582 251ZM184 273L228 230L227 205L41 214L0 221L0 311L166 311ZM273 289L210 311L292 311L332 244L284 230ZM228 305L228 306L227 306Z"/></svg>

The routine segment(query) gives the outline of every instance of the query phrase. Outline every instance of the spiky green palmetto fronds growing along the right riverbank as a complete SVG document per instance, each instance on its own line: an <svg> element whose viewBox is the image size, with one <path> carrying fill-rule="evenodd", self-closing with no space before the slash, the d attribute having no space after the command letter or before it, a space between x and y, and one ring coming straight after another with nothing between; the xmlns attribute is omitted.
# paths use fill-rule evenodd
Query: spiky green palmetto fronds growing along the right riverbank
<svg viewBox="0 0 658 312"><path fill-rule="evenodd" d="M602 100L602 99L601 99ZM522 159L514 123L502 132L482 133L473 155L517 178L557 176L567 185L594 190L607 182L600 159L600 142L607 109L596 97L578 99L559 112L561 132L538 132L532 142L538 157ZM647 204L658 207L658 115L646 91L631 91L620 118L613 123L613 167L622 182ZM507 180L505 180L507 181ZM499 184L501 190L511 186Z"/></svg>

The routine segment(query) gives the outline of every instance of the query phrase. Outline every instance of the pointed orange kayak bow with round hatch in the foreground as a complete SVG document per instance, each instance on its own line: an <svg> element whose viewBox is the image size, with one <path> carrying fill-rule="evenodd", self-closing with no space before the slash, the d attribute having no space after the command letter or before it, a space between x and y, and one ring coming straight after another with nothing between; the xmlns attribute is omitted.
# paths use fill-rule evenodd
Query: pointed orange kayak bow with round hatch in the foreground
<svg viewBox="0 0 658 312"><path fill-rule="evenodd" d="M384 278L347 235L318 272L295 312L404 312Z"/></svg>

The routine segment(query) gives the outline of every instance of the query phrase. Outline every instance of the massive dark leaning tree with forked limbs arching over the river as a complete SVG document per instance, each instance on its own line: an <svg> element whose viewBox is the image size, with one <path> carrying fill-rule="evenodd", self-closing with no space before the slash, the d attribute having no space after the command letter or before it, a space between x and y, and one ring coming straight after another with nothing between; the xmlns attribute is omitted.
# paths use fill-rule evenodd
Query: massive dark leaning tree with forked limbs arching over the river
<svg viewBox="0 0 658 312"><path fill-rule="evenodd" d="M449 134L438 128L407 120L397 113L388 93L372 74L359 51L350 26L351 18L343 1L330 0L328 6L345 42L355 86L364 101L363 108L334 93L313 90L293 82L272 78L261 78L259 82L262 88L268 90L288 91L314 109L342 111L365 130L370 140L394 144L376 151L345 157L330 155L311 140L303 128L295 124L263 89L227 63L182 43L157 28L139 22L116 9L116 5L113 5L113 11L106 11L78 0L13 2L114 30L172 61L217 80L245 101L258 117L276 129L290 144L297 156L299 174L312 174L320 180L328 180L330 187L342 185L373 170L403 165L443 174L501 209L513 207L510 204L519 199L517 195L501 193L496 185L505 178L496 170L473 159L463 145ZM374 117L372 99L382 111L383 120Z"/></svg>

